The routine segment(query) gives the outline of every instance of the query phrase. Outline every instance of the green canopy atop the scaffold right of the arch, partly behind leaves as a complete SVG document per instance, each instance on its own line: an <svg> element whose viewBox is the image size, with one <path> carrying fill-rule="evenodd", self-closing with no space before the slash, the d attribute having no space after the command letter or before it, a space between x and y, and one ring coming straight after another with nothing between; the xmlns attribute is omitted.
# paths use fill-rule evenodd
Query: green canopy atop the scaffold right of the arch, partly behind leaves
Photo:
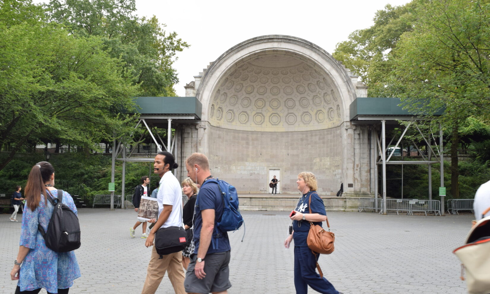
<svg viewBox="0 0 490 294"><path fill-rule="evenodd" d="M423 103L421 101L421 103ZM386 119L396 120L397 117L403 117L402 120L406 120L407 117L417 117L420 114L409 112L403 109L401 106L400 98L356 98L354 102L350 104L350 120L379 120L385 117ZM433 113L432 115L441 115L444 109ZM389 117L389 118L388 118Z"/></svg>

